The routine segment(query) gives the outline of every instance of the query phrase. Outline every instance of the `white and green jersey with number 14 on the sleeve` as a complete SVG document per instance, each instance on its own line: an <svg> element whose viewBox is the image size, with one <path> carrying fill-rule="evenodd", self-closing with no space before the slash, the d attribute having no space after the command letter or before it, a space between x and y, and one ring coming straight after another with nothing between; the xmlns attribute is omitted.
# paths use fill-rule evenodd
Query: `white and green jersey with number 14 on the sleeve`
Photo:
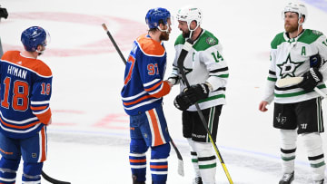
<svg viewBox="0 0 327 184"><path fill-rule="evenodd" d="M169 77L173 84L181 84L181 92L186 88L186 85L181 82L182 75L177 68L177 60L184 43L185 39L181 34L174 44L176 54L173 61L173 73ZM203 30L194 41L193 48L183 62L186 78L190 85L209 82L213 86L213 91L209 92L208 98L198 102L201 109L225 104L225 86L229 73L222 50L222 45L218 39L210 32ZM187 111L196 111L195 105L192 105Z"/></svg>

